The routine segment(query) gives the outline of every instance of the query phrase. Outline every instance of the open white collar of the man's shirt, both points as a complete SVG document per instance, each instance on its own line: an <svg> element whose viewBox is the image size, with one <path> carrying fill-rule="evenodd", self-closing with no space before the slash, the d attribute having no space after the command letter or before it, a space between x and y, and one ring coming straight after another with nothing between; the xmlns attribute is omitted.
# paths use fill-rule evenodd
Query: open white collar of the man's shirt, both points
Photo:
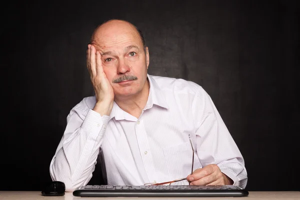
<svg viewBox="0 0 300 200"><path fill-rule="evenodd" d="M150 89L149 89L149 95L144 110L151 108L153 104L168 109L169 107L167 105L165 95L163 91L160 89L160 87L158 86L157 82L149 74L147 74L147 79L149 81ZM122 110L116 104L115 101L113 101L113 107L109 116L110 119L114 117L116 120L122 120L122 119L132 120L132 121L136 120L135 117L131 116L130 114Z"/></svg>

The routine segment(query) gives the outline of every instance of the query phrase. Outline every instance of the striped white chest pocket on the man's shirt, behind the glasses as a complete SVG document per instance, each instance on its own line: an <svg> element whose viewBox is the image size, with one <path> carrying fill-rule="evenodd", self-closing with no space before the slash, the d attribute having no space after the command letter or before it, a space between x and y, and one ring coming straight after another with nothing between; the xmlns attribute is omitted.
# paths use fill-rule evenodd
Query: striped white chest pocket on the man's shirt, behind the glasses
<svg viewBox="0 0 300 200"><path fill-rule="evenodd" d="M163 147L163 154L171 179L183 178L190 174L193 152L189 141Z"/></svg>

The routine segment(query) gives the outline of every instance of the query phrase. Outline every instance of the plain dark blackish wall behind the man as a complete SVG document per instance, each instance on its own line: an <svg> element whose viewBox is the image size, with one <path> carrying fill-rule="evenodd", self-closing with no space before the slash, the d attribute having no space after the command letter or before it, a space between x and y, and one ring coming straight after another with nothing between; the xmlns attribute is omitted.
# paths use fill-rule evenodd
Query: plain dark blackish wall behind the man
<svg viewBox="0 0 300 200"><path fill-rule="evenodd" d="M66 116L93 95L89 36L110 18L143 31L149 74L192 80L210 94L244 156L248 190L299 189L296 0L13 1L1 15L0 190L40 190L51 180ZM90 183L101 182L96 170Z"/></svg>

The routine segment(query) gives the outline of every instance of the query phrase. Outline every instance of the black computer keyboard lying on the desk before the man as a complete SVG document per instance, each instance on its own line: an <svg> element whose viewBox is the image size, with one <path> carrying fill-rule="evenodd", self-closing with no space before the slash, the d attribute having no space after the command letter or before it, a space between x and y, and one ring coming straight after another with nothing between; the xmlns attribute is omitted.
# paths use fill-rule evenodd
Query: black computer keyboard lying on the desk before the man
<svg viewBox="0 0 300 200"><path fill-rule="evenodd" d="M74 196L93 197L165 197L165 196L247 196L248 191L233 185L85 185L73 191Z"/></svg>

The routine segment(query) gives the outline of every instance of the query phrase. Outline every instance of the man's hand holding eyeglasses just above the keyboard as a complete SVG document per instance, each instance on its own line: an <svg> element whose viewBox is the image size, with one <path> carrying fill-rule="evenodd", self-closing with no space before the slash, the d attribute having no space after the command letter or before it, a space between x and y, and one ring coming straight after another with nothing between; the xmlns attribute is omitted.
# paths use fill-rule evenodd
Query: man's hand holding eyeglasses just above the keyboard
<svg viewBox="0 0 300 200"><path fill-rule="evenodd" d="M216 164L208 164L198 168L188 175L187 180L191 185L228 185L233 181L221 172Z"/></svg>

